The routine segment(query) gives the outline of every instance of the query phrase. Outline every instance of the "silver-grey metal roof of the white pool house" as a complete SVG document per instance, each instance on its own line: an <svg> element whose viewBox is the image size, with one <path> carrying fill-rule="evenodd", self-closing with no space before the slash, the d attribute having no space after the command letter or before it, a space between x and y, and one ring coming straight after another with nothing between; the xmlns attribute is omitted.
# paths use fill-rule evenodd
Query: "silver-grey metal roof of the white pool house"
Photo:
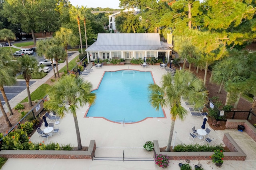
<svg viewBox="0 0 256 170"><path fill-rule="evenodd" d="M158 33L99 33L86 51L154 51L170 50L162 45Z"/></svg>

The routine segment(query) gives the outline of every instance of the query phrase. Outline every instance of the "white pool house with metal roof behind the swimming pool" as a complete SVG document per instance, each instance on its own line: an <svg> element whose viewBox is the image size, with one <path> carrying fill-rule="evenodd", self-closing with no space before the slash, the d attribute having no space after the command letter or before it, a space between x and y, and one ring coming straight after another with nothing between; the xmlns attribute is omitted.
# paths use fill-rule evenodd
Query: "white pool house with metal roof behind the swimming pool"
<svg viewBox="0 0 256 170"><path fill-rule="evenodd" d="M99 33L97 41L86 49L86 53L88 61L97 61L99 57L102 60L125 59L125 63L130 63L132 58L166 57L170 63L171 39L168 38L167 43L160 41L159 33Z"/></svg>

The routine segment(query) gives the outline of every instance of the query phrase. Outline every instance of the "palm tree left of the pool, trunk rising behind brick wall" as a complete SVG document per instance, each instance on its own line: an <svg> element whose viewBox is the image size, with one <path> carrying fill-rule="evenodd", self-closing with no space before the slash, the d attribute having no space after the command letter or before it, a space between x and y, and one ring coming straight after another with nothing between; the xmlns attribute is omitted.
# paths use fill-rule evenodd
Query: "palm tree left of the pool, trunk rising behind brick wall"
<svg viewBox="0 0 256 170"><path fill-rule="evenodd" d="M82 77L67 75L46 90L50 100L44 102L44 107L55 111L60 117L72 113L76 127L78 150L82 149L76 110L85 104L94 104L96 94L91 93L92 84L84 81ZM67 107L68 105L68 107Z"/></svg>

